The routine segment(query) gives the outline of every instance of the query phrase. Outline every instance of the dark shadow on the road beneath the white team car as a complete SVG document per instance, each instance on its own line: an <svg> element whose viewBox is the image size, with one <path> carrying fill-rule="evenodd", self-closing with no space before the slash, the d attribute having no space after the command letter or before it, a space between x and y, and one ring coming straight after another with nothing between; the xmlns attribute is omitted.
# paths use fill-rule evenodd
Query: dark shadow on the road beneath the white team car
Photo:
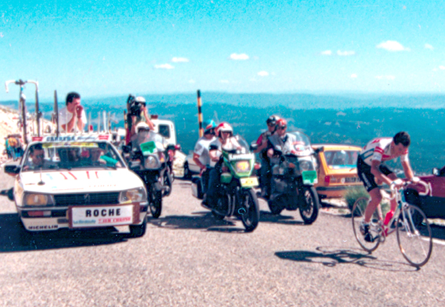
<svg viewBox="0 0 445 307"><path fill-rule="evenodd" d="M127 241L114 228L101 230L68 230L27 232L16 213L0 214L0 253L107 245Z"/></svg>

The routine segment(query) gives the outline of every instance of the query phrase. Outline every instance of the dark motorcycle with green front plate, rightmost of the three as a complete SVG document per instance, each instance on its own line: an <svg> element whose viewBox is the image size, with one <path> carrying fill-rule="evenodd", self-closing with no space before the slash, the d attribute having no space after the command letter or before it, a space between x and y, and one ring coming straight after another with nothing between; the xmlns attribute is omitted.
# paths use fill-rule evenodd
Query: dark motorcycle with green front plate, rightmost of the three
<svg viewBox="0 0 445 307"><path fill-rule="evenodd" d="M273 144L273 143L272 143ZM275 144L268 206L272 214L299 209L305 224L318 217L320 202L314 184L318 182L316 153L301 132L288 133L284 144Z"/></svg>

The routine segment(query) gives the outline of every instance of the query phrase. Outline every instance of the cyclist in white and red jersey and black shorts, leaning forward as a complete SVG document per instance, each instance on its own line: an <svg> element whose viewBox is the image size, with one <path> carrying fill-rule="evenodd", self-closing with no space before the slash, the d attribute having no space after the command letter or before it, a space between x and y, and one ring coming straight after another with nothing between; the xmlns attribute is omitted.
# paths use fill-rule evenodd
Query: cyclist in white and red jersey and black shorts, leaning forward
<svg viewBox="0 0 445 307"><path fill-rule="evenodd" d="M370 195L368 206L365 210L365 219L360 225L361 234L367 242L374 241L375 238L369 232L369 223L372 214L379 206L382 195L378 183L384 182L387 185L394 184L401 187L403 182L397 179L394 174L383 162L401 157L401 163L405 177L411 180L414 177L411 165L408 159L408 147L411 139L407 132L398 132L393 138L374 138L360 152L357 158L357 172L360 180L363 182ZM394 214L396 202L391 200L391 211ZM388 214L391 214L391 213Z"/></svg>

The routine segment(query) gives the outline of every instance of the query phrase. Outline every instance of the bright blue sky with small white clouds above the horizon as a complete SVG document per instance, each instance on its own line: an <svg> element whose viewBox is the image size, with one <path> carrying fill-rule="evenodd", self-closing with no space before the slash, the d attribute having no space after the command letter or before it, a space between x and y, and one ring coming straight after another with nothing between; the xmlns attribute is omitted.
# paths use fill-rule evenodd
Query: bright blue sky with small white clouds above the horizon
<svg viewBox="0 0 445 307"><path fill-rule="evenodd" d="M444 9L444 1L2 1L0 82L37 80L42 100L54 90L443 93ZM0 101L16 94L2 87Z"/></svg>

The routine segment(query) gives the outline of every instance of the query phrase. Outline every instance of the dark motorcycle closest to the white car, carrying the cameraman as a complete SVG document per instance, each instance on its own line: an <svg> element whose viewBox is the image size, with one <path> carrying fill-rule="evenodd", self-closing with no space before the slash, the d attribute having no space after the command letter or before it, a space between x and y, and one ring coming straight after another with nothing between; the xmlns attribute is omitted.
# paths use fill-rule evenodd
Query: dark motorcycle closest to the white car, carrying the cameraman
<svg viewBox="0 0 445 307"><path fill-rule="evenodd" d="M129 153L129 168L145 184L151 214L157 219L162 212L162 197L170 195L172 191L173 179L168 167L168 151L171 149L166 148L164 138L155 132L149 132L140 145L133 145L132 149L126 146L124 149Z"/></svg>

